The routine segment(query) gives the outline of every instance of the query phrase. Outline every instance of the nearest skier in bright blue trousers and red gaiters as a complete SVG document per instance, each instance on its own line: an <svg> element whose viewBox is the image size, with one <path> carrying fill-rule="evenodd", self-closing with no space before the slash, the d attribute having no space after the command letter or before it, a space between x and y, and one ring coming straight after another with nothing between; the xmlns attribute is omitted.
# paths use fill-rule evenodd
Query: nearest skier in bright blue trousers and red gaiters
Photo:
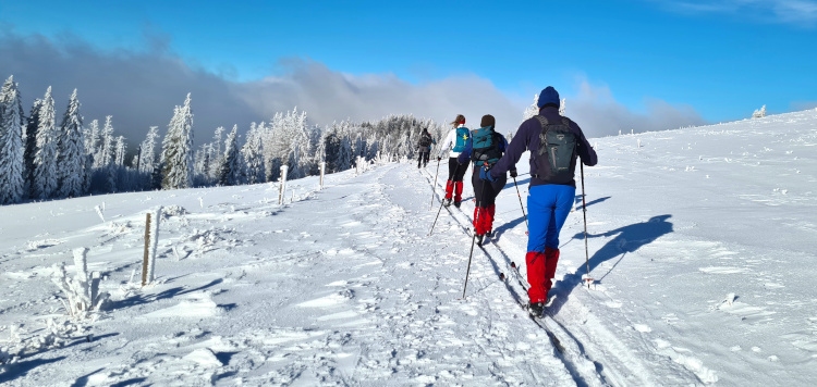
<svg viewBox="0 0 817 387"><path fill-rule="evenodd" d="M559 92L548 86L539 95L539 114L520 125L505 154L480 178L496 182L531 151L531 187L527 196L529 236L527 239L527 282L531 313L540 315L556 276L559 261L559 232L568 219L576 195L576 157L587 166L598 158L582 129L559 114ZM511 173L514 176L514 173Z"/></svg>

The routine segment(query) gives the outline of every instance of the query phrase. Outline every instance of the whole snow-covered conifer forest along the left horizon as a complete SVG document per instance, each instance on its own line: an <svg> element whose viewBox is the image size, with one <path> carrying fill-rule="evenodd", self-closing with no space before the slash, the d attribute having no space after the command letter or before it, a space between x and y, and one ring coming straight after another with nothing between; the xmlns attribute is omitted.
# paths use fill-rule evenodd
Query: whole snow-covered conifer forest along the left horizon
<svg viewBox="0 0 817 387"><path fill-rule="evenodd" d="M0 95L0 204L143 191L275 182L281 166L288 178L355 167L358 162L401 161L415 157L427 128L440 138L444 126L412 115L379 121L344 120L320 127L294 108L269 122L215 129L210 141L195 145L192 96L173 110L161 143L150 126L137 149L127 150L114 117L86 124L77 91L58 121L49 87L26 114L19 85L10 76ZM242 136L241 133L245 134ZM132 157L131 157L132 155ZM130 159L130 160L129 160Z"/></svg>

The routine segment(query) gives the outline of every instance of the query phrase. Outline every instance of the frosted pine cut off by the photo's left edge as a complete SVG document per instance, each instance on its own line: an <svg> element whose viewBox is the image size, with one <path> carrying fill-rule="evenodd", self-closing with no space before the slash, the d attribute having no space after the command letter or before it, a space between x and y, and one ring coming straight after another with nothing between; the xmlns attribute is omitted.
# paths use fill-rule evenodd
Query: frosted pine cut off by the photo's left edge
<svg viewBox="0 0 817 387"><path fill-rule="evenodd" d="M25 196L23 111L13 77L0 92L0 204L16 203Z"/></svg>

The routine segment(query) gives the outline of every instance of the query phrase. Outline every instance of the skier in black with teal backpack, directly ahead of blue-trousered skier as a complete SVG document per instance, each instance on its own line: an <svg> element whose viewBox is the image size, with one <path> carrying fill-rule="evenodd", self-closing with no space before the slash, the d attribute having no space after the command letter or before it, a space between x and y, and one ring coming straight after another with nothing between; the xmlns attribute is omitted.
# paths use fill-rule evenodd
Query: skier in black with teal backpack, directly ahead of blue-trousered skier
<svg viewBox="0 0 817 387"><path fill-rule="evenodd" d="M483 239L490 238L493 230L497 195L504 188L508 179L504 173L490 182L479 178L480 174L485 174L485 171L490 170L499 161L508 148L508 140L495 130L496 125L497 122L492 115L484 115L479 129L471 133L471 138L465 141L465 149L458 158L460 164L468 161L474 163L474 174L471 177L477 203L474 208L474 232L477 244L480 246ZM515 167L511 170L511 176L516 176Z"/></svg>

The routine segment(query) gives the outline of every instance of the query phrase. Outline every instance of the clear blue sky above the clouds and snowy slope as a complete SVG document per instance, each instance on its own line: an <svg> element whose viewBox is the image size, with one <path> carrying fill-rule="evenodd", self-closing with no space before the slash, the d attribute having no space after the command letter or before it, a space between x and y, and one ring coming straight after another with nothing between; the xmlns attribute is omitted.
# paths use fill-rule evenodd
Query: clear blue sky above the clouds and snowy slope
<svg viewBox="0 0 817 387"><path fill-rule="evenodd" d="M0 24L105 52L163 41L234 83L285 76L296 59L355 87L487 82L520 111L548 85L636 118L656 114L656 101L709 122L817 105L817 1L807 0L0 0Z"/></svg>

